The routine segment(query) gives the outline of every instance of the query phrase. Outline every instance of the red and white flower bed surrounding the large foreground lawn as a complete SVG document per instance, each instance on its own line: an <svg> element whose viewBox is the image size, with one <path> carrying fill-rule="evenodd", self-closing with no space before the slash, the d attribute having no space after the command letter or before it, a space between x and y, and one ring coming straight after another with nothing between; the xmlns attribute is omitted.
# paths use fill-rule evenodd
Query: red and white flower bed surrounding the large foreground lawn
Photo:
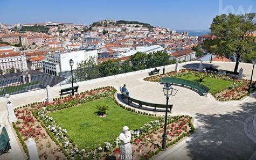
<svg viewBox="0 0 256 160"><path fill-rule="evenodd" d="M104 87L76 94L74 97L60 97L53 103L37 102L15 109L19 121L13 123L20 143L26 152L24 141L32 137L37 143L40 159L103 159L107 155L120 154L120 140L113 139L100 144L92 150L82 149L67 135L67 130L61 128L47 113L63 110L78 104L87 103L96 99L114 95L113 87ZM115 103L117 101L115 100ZM118 104L120 107L138 114L152 115L146 112L135 111L132 108ZM184 136L192 133L191 117L187 115L168 117L167 146L175 144ZM133 154L137 159L148 159L161 151L164 117L146 123L132 132Z"/></svg>

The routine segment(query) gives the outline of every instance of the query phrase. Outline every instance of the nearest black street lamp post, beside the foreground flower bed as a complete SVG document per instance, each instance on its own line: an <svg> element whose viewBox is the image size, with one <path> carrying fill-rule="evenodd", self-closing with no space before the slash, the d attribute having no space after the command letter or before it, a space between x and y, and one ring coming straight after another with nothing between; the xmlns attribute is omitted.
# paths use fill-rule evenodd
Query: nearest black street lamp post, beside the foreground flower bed
<svg viewBox="0 0 256 160"><path fill-rule="evenodd" d="M167 116L168 116L168 101L169 101L169 96L175 96L178 90L174 89L171 87L170 83L167 83L163 87L163 93L164 96L166 96L166 108L165 108L165 119L164 119L164 133L163 133L163 142L162 142L162 148L163 150L166 149L166 139L167 139L167 134L166 134L166 127L167 127Z"/></svg>

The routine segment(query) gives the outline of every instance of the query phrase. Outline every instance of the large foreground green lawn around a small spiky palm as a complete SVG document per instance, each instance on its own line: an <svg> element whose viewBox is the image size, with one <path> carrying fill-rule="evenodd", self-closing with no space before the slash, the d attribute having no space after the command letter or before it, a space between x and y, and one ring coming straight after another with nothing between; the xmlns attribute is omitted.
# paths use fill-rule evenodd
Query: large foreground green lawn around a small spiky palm
<svg viewBox="0 0 256 160"><path fill-rule="evenodd" d="M94 112L96 105L109 107L107 117L100 118ZM92 149L106 141L116 139L123 126L137 129L156 117L129 112L116 105L112 97L91 101L77 107L55 111L49 115L57 124L67 129L67 134L80 148Z"/></svg>

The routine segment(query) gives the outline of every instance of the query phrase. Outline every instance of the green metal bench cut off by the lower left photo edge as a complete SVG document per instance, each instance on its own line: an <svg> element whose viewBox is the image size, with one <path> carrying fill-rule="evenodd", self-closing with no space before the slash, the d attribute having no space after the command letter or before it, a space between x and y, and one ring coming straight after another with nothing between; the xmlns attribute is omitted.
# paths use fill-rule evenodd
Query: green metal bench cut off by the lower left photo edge
<svg viewBox="0 0 256 160"><path fill-rule="evenodd" d="M8 152L8 150L11 148L9 141L10 139L9 139L8 133L5 127L3 127L2 133L0 135L0 155Z"/></svg>

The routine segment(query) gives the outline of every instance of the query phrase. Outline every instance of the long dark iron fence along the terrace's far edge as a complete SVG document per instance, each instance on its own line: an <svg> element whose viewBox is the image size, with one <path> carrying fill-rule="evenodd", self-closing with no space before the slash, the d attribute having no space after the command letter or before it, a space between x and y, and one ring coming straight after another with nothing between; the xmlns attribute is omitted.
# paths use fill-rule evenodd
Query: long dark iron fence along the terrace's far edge
<svg viewBox="0 0 256 160"><path fill-rule="evenodd" d="M163 66L165 57L147 59L143 61L116 61L112 66L96 65L90 68L74 69L73 82L82 82L95 78L124 74L127 72ZM174 64L175 61L166 61L165 65ZM0 79L0 97L5 94L18 94L29 91L45 89L47 85L58 86L71 83L71 71L61 71L56 75L42 73L34 76L16 76Z"/></svg>

